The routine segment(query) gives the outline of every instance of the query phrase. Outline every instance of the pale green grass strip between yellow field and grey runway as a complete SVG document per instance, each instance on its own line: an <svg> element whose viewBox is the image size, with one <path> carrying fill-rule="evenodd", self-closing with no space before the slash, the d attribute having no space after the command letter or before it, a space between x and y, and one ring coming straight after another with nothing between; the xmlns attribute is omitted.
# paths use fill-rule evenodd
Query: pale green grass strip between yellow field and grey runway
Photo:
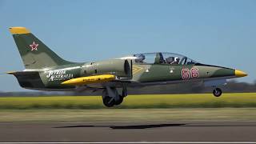
<svg viewBox="0 0 256 144"><path fill-rule="evenodd" d="M255 121L256 108L0 110L0 122Z"/></svg>

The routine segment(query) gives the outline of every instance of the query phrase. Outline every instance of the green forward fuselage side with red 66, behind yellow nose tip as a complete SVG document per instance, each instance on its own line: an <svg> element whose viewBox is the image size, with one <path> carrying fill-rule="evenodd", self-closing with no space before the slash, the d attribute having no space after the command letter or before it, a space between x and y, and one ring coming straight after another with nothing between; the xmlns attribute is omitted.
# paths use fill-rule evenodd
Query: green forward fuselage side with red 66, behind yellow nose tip
<svg viewBox="0 0 256 144"><path fill-rule="evenodd" d="M182 69L192 68L198 69L198 78L222 78L222 77L232 77L234 76L234 70L229 68L223 68L218 66L182 66L182 65L134 65L135 69L140 69L135 71L134 81L137 82L161 82L161 81L178 81L182 79ZM172 71L171 71L172 70ZM191 80L194 78L189 78L186 80Z"/></svg>

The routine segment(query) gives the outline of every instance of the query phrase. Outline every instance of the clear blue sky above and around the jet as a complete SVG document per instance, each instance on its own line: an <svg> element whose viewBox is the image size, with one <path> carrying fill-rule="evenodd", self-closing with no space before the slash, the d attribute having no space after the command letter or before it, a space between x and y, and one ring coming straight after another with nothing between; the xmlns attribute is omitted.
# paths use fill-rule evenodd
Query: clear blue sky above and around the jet
<svg viewBox="0 0 256 144"><path fill-rule="evenodd" d="M22 91L8 28L24 26L62 58L90 62L165 51L246 71L256 80L254 0L0 0L0 91Z"/></svg>

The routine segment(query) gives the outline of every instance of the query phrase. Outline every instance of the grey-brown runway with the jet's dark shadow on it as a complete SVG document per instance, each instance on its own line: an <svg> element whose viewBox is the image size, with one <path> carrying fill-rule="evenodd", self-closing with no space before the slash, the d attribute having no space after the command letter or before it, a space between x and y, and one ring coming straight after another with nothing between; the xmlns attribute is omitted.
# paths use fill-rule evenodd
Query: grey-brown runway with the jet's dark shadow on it
<svg viewBox="0 0 256 144"><path fill-rule="evenodd" d="M1 142L256 142L256 122L0 123Z"/></svg>

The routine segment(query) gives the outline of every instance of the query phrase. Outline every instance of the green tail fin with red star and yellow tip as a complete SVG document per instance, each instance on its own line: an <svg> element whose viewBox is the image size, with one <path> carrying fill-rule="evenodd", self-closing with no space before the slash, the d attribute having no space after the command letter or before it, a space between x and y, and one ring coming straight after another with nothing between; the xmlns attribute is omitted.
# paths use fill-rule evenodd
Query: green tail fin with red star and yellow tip
<svg viewBox="0 0 256 144"><path fill-rule="evenodd" d="M25 27L10 27L10 33L13 34L26 69L42 69L73 63L60 58Z"/></svg>

